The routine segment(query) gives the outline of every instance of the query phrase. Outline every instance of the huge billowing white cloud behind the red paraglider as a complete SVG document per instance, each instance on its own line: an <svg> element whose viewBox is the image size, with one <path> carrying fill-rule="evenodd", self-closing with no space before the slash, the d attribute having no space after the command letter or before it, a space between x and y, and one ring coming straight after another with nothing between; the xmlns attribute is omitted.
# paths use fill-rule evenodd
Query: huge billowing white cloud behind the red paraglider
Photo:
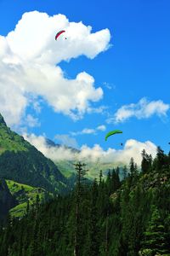
<svg viewBox="0 0 170 256"><path fill-rule="evenodd" d="M61 29L65 34L55 41ZM82 118L91 103L102 98L103 90L94 87L94 78L85 71L75 79L65 78L59 62L80 55L93 59L108 49L110 39L108 29L92 32L91 26L70 22L65 15L22 15L14 31L0 36L0 109L8 125L20 122L29 96L42 97L57 113Z"/></svg>

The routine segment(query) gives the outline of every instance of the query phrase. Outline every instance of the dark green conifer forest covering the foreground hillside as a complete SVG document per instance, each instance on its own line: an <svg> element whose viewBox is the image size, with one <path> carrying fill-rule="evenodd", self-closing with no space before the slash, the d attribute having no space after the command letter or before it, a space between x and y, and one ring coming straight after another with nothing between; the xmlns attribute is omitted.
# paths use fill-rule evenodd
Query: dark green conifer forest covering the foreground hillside
<svg viewBox="0 0 170 256"><path fill-rule="evenodd" d="M131 159L122 181L119 168L92 185L77 178L71 195L37 198L24 218L8 218L0 255L170 255L170 156L142 157L141 172Z"/></svg>

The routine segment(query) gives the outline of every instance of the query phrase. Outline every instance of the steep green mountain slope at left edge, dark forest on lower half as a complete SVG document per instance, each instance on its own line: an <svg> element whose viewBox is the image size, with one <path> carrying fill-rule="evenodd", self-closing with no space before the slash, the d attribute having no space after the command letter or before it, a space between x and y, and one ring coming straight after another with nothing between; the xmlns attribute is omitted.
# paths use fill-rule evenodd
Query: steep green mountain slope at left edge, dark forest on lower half
<svg viewBox="0 0 170 256"><path fill-rule="evenodd" d="M11 131L0 114L0 178L25 183L49 192L67 189L66 178L23 137Z"/></svg>

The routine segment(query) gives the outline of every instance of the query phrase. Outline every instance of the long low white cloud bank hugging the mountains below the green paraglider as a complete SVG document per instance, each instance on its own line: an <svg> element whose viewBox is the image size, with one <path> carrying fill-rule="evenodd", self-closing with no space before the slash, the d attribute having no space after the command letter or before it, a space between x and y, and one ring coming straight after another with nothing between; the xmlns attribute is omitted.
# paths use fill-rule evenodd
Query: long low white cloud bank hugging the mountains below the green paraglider
<svg viewBox="0 0 170 256"><path fill-rule="evenodd" d="M71 148L49 147L47 141L42 136L35 136L34 134L24 134L27 141L33 144L45 156L54 161L59 160L83 160L88 162L113 163L115 165L128 165L131 157L140 166L141 152L143 149L147 154L156 156L156 145L150 141L144 143L133 139L127 140L122 149L108 148L104 150L99 144L94 145L93 148L83 145L79 152L72 151Z"/></svg>

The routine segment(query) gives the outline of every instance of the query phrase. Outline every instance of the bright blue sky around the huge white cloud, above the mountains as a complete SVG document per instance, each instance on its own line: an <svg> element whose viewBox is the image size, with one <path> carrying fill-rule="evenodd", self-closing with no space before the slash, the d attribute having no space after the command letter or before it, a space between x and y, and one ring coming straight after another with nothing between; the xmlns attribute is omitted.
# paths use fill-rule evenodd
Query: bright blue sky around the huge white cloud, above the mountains
<svg viewBox="0 0 170 256"><path fill-rule="evenodd" d="M90 148L99 144L103 150L119 150L120 143L124 145L133 139L160 145L167 153L170 141L169 1L34 2L0 0L0 35L6 38L22 15L34 10L49 16L65 15L70 22L82 21L85 26L92 26L91 33L107 28L111 34L109 49L105 46L92 59L84 54L56 64L67 79L75 79L78 73L88 73L94 78L95 90L100 87L103 96L96 102L89 100L91 111L86 109L77 120L70 114L54 110L50 100L37 93L36 100L31 97L30 104L23 103L20 119L10 122L8 100L3 100L7 108L0 112L8 124L16 131L45 135L56 143L71 143L79 148L84 144ZM10 43L11 39L8 40ZM66 42L64 44L66 48ZM35 102L41 111L36 111ZM122 130L122 135L105 143L105 133L114 129Z"/></svg>

